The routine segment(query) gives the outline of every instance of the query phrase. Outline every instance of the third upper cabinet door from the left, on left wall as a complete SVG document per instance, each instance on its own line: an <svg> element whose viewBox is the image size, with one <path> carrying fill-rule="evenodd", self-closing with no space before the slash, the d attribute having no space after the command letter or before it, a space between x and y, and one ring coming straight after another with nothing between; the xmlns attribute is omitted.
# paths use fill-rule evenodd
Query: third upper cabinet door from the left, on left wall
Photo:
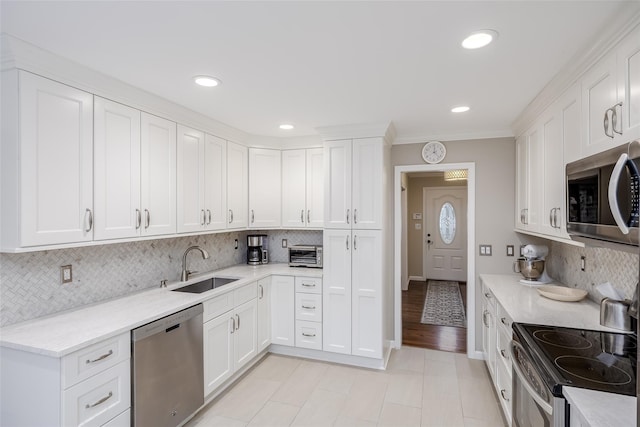
<svg viewBox="0 0 640 427"><path fill-rule="evenodd" d="M142 113L142 234L176 232L176 124Z"/></svg>

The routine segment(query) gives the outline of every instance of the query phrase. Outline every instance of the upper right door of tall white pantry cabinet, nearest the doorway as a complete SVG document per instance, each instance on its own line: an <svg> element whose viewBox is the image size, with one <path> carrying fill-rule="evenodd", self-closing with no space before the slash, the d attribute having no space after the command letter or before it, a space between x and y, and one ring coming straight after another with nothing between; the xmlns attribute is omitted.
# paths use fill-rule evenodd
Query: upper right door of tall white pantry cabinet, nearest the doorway
<svg viewBox="0 0 640 427"><path fill-rule="evenodd" d="M382 140L354 139L351 183L352 227L382 228Z"/></svg>

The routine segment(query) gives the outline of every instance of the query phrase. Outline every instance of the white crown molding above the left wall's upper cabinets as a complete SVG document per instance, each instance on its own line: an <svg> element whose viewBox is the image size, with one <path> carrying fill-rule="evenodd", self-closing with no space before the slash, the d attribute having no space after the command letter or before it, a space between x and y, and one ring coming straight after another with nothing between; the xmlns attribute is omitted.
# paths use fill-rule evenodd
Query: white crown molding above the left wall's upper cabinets
<svg viewBox="0 0 640 427"><path fill-rule="evenodd" d="M62 58L9 34L0 35L2 71L17 68L138 110L246 145L246 132L131 86L77 62Z"/></svg>

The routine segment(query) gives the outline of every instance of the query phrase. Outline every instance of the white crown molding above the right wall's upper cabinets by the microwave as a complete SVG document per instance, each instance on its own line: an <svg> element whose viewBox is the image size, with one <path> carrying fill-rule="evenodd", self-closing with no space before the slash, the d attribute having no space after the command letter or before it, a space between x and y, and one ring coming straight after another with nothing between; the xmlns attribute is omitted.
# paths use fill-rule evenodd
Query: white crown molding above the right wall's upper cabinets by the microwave
<svg viewBox="0 0 640 427"><path fill-rule="evenodd" d="M567 66L560 70L525 107L511 125L513 134L522 134L564 91L577 83L584 73L610 53L612 47L639 25L640 2L629 2L609 23L604 32L588 44L584 51L570 58Z"/></svg>

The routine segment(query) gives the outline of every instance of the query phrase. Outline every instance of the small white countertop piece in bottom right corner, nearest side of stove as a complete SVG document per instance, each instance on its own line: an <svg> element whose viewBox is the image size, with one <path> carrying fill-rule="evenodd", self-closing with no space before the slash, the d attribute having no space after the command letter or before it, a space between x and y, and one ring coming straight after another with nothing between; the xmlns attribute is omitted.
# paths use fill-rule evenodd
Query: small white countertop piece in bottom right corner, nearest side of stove
<svg viewBox="0 0 640 427"><path fill-rule="evenodd" d="M635 426L637 398L575 387L562 387L562 394L591 427Z"/></svg>

